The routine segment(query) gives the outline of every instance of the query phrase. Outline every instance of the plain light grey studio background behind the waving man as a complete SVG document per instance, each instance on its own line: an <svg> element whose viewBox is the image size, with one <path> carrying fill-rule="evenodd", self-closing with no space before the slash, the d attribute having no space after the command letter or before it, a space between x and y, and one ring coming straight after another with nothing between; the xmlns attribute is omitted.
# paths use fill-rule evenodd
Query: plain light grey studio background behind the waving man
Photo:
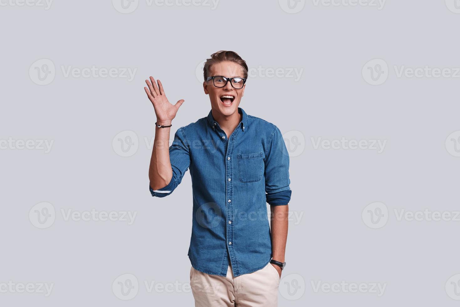
<svg viewBox="0 0 460 307"><path fill-rule="evenodd" d="M449 0L448 0L449 1ZM111 1L58 1L0 7L0 139L54 140L52 150L0 150L0 284L54 283L51 295L1 293L0 305L192 306L191 292L148 293L144 281L189 282L191 181L169 197L147 189L155 113L144 80L159 78L170 102L185 99L178 127L207 116L209 98L197 66L233 50L250 68L303 69L298 81L256 74L240 107L299 136L290 158L286 270L299 274L300 298L279 306L456 306L445 284L460 273L459 221L396 219L393 209L459 210L460 158L445 140L460 130L457 78L397 77L400 67L459 67L460 15L444 1L388 0L369 6L305 7L291 14L278 1L209 6L147 6L118 12ZM299 3L301 5L302 3ZM233 30L235 29L235 30ZM38 85L29 68L50 59L56 76ZM381 58L388 79L373 86L363 66ZM137 69L135 78L65 77L61 65ZM130 130L138 150L122 157L114 137ZM294 132L292 132L294 131ZM317 139L380 139L385 150L314 149ZM173 135L171 135L171 139ZM291 140L293 141L293 140ZM56 209L52 226L29 219L35 204ZM362 219L370 203L388 207L385 226ZM137 211L123 221L64 220L61 209ZM112 291L131 273L138 294ZM315 292L311 282L386 283L375 293ZM286 281L288 283L288 281ZM289 287L283 280L280 292Z"/></svg>

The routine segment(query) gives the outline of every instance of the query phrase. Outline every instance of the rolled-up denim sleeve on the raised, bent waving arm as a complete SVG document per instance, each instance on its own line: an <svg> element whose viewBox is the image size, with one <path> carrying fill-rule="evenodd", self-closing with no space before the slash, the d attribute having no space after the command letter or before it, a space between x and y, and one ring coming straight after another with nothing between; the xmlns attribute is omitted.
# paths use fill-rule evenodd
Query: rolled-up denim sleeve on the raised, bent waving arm
<svg viewBox="0 0 460 307"><path fill-rule="evenodd" d="M166 186L158 190L153 190L149 183L152 196L165 197L173 193L190 166L190 147L185 137L184 127L180 127L174 134L173 144L169 146L169 159L173 169L173 177Z"/></svg>

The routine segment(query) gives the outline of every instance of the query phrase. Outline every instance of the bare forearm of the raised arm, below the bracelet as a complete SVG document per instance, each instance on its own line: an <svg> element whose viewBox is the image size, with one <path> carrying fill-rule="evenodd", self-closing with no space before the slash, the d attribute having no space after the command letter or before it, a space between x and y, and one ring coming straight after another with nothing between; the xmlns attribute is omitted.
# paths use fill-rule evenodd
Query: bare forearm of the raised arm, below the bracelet
<svg viewBox="0 0 460 307"><path fill-rule="evenodd" d="M157 122L159 125L171 125L171 121ZM155 139L150 158L149 180L153 190L166 186L173 178L173 170L169 159L169 136L171 127L159 128L155 125Z"/></svg>

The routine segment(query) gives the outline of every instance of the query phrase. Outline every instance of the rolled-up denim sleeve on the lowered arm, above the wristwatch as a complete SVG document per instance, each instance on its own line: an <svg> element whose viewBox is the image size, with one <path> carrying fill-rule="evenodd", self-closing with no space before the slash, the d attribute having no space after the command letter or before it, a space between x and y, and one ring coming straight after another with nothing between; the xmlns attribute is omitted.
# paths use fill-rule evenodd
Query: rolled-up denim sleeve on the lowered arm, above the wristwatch
<svg viewBox="0 0 460 307"><path fill-rule="evenodd" d="M275 126L265 153L265 196L274 206L287 205L291 200L289 184L289 153L283 136Z"/></svg>

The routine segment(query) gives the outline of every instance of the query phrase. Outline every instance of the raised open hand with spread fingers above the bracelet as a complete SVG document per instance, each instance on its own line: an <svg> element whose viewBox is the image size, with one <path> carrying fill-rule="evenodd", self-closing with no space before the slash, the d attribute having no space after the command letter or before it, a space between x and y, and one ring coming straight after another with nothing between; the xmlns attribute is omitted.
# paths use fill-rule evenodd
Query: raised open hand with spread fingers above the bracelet
<svg viewBox="0 0 460 307"><path fill-rule="evenodd" d="M153 108L155 109L156 121L158 124L161 125L169 125L173 121L174 117L176 117L177 111L179 107L184 103L184 99L178 100L176 104L171 104L169 100L166 98L165 91L163 89L163 85L161 84L160 80L158 81L158 86L156 85L155 79L150 76L150 81L145 80L147 83L147 87L144 87L145 93L147 93L147 97L149 97L150 101L153 104Z"/></svg>

